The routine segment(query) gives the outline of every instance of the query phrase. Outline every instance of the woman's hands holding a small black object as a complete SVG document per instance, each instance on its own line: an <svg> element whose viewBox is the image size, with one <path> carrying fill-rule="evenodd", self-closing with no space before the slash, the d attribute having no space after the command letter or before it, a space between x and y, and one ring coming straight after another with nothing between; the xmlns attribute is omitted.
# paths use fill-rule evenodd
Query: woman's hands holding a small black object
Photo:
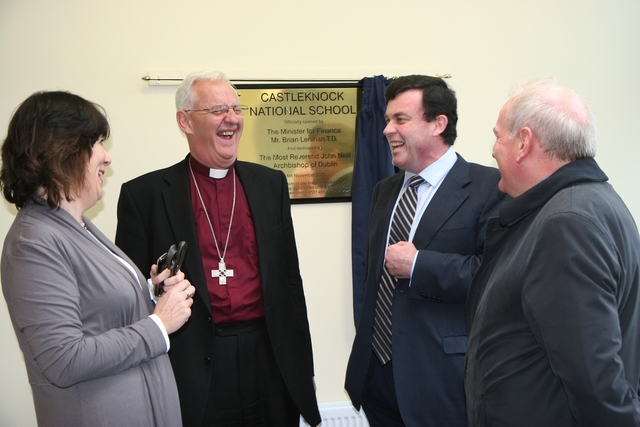
<svg viewBox="0 0 640 427"><path fill-rule="evenodd" d="M156 268L154 265L151 267ZM152 280L159 278L162 279L165 275L168 276L169 270L165 270L153 277ZM168 334L171 334L184 325L191 316L191 305L193 305L193 295L196 288L191 286L188 280L185 280L184 273L178 272L173 277L169 277L164 281L164 293L158 299L153 314L157 315Z"/></svg>

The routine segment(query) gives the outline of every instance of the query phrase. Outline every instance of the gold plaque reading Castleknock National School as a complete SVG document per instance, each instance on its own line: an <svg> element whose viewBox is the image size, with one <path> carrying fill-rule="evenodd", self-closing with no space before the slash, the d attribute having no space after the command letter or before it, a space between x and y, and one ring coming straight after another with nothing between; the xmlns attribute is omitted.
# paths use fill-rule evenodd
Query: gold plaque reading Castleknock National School
<svg viewBox="0 0 640 427"><path fill-rule="evenodd" d="M247 85L249 86L249 85ZM348 201L360 88L243 87L238 158L284 172L293 203Z"/></svg>

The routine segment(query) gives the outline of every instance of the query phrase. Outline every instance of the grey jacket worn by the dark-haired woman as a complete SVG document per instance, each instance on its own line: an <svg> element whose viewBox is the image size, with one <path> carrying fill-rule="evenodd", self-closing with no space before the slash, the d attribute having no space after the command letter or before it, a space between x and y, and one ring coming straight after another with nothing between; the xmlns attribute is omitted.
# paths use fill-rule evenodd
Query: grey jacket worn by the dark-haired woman
<svg viewBox="0 0 640 427"><path fill-rule="evenodd" d="M144 277L84 221L97 240L67 211L30 203L4 242L2 290L38 425L181 426ZM105 248L134 266L137 277Z"/></svg>

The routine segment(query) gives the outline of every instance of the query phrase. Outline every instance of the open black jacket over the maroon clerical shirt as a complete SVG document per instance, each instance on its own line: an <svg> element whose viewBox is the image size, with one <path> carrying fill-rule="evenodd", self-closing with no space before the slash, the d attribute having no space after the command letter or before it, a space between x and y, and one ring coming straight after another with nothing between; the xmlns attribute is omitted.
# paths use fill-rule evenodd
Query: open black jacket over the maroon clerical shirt
<svg viewBox="0 0 640 427"><path fill-rule="evenodd" d="M188 158L122 185L116 244L148 271L174 243L187 242L182 271L196 288L191 318L170 336L184 427L200 427L211 384L214 323L191 205ZM236 161L258 245L267 330L278 365L300 413L320 423L313 356L298 265L287 181L282 172Z"/></svg>

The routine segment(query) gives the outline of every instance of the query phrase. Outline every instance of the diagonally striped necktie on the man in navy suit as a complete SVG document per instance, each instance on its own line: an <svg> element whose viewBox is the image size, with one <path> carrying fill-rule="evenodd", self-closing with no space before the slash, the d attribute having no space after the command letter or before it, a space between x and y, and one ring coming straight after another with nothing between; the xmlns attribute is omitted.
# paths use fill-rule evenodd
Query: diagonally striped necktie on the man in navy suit
<svg viewBox="0 0 640 427"><path fill-rule="evenodd" d="M389 245L408 241L411 224L418 204L418 186L424 182L420 175L409 179L409 185L398 201L391 220ZM391 360L391 305L397 279L389 273L386 264L378 288L376 311L373 319L373 351L383 365Z"/></svg>

